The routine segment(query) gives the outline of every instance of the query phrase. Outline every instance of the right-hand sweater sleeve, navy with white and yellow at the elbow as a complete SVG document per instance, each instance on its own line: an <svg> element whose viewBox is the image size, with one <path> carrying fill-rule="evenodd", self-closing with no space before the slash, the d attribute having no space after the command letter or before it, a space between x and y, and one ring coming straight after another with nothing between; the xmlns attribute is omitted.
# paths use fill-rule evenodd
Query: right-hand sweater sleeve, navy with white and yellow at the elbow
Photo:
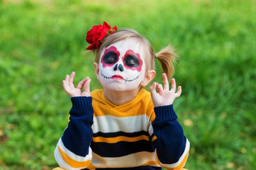
<svg viewBox="0 0 256 170"><path fill-rule="evenodd" d="M152 127L153 135L157 136L157 139L152 145L153 149L156 149L160 165L165 165L168 169L183 167L181 163L183 164L187 159L189 141L177 121L173 105L158 106L154 111L156 118L152 122Z"/></svg>

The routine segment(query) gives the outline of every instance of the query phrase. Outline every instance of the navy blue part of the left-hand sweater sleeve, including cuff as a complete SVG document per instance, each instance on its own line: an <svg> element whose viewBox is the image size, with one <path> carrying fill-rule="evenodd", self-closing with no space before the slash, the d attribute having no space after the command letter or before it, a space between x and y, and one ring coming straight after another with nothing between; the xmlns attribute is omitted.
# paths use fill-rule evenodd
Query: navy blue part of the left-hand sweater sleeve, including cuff
<svg viewBox="0 0 256 170"><path fill-rule="evenodd" d="M93 136L92 97L73 97L71 102L70 121L61 140L72 153L86 156Z"/></svg>

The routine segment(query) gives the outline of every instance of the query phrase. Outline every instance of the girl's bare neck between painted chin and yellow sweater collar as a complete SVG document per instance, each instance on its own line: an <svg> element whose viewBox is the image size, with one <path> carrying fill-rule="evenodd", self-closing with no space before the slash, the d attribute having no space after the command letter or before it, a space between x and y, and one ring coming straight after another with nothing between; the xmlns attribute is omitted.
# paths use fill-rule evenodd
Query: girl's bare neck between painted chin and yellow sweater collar
<svg viewBox="0 0 256 170"><path fill-rule="evenodd" d="M131 102L138 94L140 87L131 91L113 91L103 87L103 94L110 102L115 105Z"/></svg>

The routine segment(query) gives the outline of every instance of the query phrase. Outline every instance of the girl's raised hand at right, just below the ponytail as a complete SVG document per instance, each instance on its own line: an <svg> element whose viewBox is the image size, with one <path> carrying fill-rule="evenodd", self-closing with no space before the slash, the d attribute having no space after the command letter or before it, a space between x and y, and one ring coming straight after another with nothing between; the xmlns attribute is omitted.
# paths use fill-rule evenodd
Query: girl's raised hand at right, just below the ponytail
<svg viewBox="0 0 256 170"><path fill-rule="evenodd" d="M171 80L171 90L169 90L169 82L165 73L162 74L162 78L163 86L154 82L153 85L149 87L155 107L173 104L174 100L181 94L181 86L178 86L176 93L176 82L174 78ZM158 92L156 91L156 88L158 89Z"/></svg>

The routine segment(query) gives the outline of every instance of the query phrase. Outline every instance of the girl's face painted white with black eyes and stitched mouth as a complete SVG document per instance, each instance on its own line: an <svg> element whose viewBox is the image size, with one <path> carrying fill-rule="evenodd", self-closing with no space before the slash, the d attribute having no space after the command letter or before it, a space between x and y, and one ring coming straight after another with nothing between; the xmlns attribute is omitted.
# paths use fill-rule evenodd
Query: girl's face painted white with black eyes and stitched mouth
<svg viewBox="0 0 256 170"><path fill-rule="evenodd" d="M99 82L107 89L138 88L145 76L144 52L138 40L128 38L103 49L99 59Z"/></svg>

